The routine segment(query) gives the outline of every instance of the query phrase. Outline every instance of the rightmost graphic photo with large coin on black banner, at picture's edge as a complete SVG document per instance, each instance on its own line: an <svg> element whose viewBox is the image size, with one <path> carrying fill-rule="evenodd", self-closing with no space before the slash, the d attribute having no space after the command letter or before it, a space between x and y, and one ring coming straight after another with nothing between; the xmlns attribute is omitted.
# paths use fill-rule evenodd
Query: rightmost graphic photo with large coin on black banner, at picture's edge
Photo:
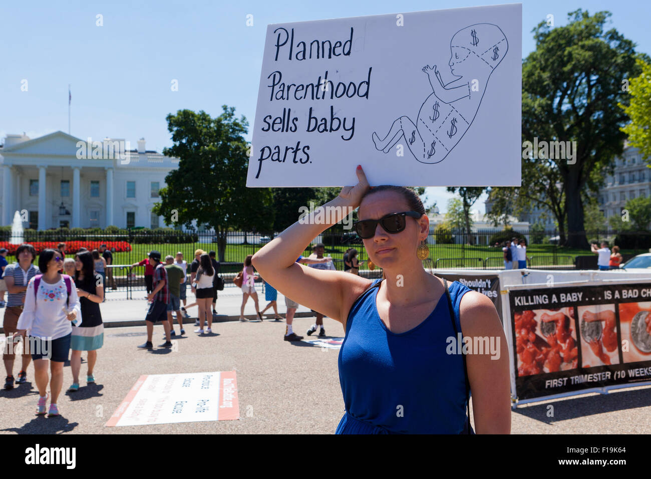
<svg viewBox="0 0 651 479"><path fill-rule="evenodd" d="M618 306L624 362L651 360L651 302L625 302Z"/></svg>

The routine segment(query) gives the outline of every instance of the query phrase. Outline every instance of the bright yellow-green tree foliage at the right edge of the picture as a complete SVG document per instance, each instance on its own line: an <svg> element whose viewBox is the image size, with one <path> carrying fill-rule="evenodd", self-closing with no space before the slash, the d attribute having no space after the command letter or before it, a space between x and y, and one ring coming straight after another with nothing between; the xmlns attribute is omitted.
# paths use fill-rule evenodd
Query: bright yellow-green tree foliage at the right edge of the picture
<svg viewBox="0 0 651 479"><path fill-rule="evenodd" d="M631 123L622 128L628 135L628 142L639 149L646 160L651 156L651 65L643 59L635 60L641 70L639 76L622 80L622 89L630 93L630 105L620 103L620 108L631 119ZM628 88L626 81L629 82Z"/></svg>

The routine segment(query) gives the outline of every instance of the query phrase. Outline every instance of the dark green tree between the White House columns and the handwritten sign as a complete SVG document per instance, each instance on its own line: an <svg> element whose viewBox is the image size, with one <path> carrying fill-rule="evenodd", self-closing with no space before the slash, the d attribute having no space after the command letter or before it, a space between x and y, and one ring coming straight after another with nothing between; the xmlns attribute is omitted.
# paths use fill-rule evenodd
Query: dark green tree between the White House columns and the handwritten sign
<svg viewBox="0 0 651 479"><path fill-rule="evenodd" d="M270 190L246 188L249 158L243 135L249 124L245 117L235 118L234 107L222 108L214 119L189 109L167 115L174 145L163 154L180 162L165 177L161 201L152 208L167 224L189 227L197 220L214 228L219 261L225 258L229 230L266 231L274 219Z"/></svg>

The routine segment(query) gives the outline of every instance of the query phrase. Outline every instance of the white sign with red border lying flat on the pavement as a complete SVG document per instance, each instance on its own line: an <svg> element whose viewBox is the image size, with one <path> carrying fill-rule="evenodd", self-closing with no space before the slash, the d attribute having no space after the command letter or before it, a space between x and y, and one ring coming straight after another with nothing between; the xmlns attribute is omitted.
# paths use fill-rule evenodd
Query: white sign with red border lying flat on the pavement
<svg viewBox="0 0 651 479"><path fill-rule="evenodd" d="M233 420L240 417L235 371L142 375L105 426Z"/></svg>

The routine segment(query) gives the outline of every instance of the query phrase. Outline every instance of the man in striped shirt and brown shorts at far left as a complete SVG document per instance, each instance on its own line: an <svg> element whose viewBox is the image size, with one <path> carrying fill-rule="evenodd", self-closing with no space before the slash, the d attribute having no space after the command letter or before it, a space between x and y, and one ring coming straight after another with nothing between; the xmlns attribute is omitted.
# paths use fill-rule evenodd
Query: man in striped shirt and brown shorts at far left
<svg viewBox="0 0 651 479"><path fill-rule="evenodd" d="M27 381L27 366L32 360L27 348L23 347L23 355L18 379L14 379L14 345L8 341L18 330L18 318L23 312L25 302L25 291L29 280L34 278L40 271L33 265L36 259L36 250L31 244L21 244L16 248L16 263L5 267L5 283L7 283L7 308L3 319L3 329L5 330L5 351L3 351L3 360L5 362L5 389L14 388L14 383L22 384ZM25 334L23 334L23 346L25 345Z"/></svg>

